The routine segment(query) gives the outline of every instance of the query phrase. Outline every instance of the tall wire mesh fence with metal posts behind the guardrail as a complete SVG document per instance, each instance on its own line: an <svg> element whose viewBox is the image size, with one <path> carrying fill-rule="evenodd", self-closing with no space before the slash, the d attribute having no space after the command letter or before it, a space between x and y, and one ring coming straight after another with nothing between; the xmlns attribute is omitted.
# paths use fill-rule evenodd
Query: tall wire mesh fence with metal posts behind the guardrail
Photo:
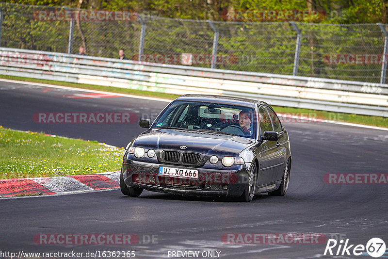
<svg viewBox="0 0 388 259"><path fill-rule="evenodd" d="M1 47L78 53L82 41L74 20L36 16L39 11L74 9L5 2L0 8ZM80 22L89 56L118 58L123 48L137 61L374 83L386 82L386 27L141 15ZM188 57L190 62L182 63Z"/></svg>

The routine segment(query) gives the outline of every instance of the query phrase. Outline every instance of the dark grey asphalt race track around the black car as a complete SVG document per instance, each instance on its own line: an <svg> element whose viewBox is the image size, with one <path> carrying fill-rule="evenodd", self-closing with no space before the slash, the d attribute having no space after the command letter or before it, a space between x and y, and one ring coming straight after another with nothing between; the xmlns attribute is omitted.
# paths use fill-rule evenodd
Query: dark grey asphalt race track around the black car
<svg viewBox="0 0 388 259"><path fill-rule="evenodd" d="M85 92L0 82L0 125L126 146L143 131L137 122L45 124L34 122L33 114L131 112L138 118L154 118L167 105L129 97L71 97L80 94ZM115 189L1 199L0 250L134 251L135 258L172 258L171 251L199 251L198 258L203 258L201 253L206 251L218 251L220 258L241 259L366 258L367 253L333 257L323 256L323 252L330 238L366 245L378 237L388 244L388 184L323 181L328 173L387 174L388 131L311 122L284 125L290 134L293 157L290 187L284 197L265 194L255 196L250 203L239 203L147 191L134 198ZM100 233L135 234L139 243L34 242L39 234ZM252 244L248 240L249 244L228 244L223 239L227 233L317 233L325 239L318 243L296 239L294 243ZM337 248L333 248L334 253Z"/></svg>

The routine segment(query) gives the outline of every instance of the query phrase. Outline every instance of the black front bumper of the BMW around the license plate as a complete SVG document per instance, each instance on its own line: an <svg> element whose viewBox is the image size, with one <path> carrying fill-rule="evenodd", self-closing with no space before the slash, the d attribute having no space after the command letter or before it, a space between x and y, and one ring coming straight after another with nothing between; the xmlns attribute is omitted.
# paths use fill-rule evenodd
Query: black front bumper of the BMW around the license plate
<svg viewBox="0 0 388 259"><path fill-rule="evenodd" d="M159 166L198 169L198 179L162 176L159 175ZM237 170L231 171L127 160L123 162L121 173L127 186L148 191L193 196L238 197L245 189L249 167L250 163L245 163L239 165Z"/></svg>

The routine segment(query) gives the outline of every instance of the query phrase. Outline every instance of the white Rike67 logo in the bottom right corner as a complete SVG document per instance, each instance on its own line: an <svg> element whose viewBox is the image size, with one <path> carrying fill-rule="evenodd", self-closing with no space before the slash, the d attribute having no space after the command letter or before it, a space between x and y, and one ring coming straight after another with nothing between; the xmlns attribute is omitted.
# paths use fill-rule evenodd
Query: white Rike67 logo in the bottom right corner
<svg viewBox="0 0 388 259"><path fill-rule="evenodd" d="M335 239L329 239L327 241L323 255L350 256L353 254L355 256L360 256L368 254L371 257L378 258L383 256L385 251L386 245L384 241L380 238L371 238L366 246L364 246L363 244L349 244L349 239L346 239L345 243L342 239L339 242L337 242L337 240Z"/></svg>

